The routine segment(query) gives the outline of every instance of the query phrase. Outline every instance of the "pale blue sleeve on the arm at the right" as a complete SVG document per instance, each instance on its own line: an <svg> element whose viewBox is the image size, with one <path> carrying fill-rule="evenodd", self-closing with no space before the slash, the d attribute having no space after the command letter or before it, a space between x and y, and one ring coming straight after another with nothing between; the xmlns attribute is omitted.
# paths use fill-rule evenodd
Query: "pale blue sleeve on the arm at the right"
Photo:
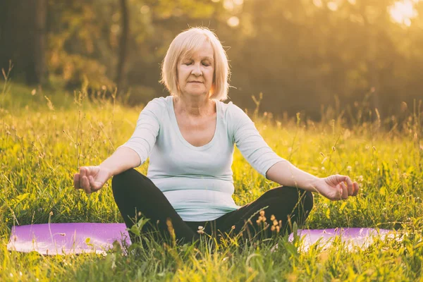
<svg viewBox="0 0 423 282"><path fill-rule="evenodd" d="M279 161L285 161L276 154L255 127L249 116L238 106L231 105L231 116L233 123L233 141L240 149L243 157L262 176Z"/></svg>

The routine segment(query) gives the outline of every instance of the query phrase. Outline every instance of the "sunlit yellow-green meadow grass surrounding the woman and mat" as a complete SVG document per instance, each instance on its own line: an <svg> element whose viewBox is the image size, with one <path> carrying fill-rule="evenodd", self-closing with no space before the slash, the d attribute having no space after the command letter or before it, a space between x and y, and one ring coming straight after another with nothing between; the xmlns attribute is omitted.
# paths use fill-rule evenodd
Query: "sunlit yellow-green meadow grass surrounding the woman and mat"
<svg viewBox="0 0 423 282"><path fill-rule="evenodd" d="M423 264L423 140L419 104L395 120L346 125L327 111L319 123L255 115L274 150L316 176L348 174L360 194L343 202L315 195L307 228L395 228L403 240L376 240L349 250L338 240L328 249L278 238L237 248L224 242L169 246L124 256L42 256L6 250L13 225L47 222L123 222L110 181L92 195L73 189L79 166L100 164L133 133L142 106L123 106L104 92L32 90L8 84L0 97L0 281L418 281ZM364 110L363 110L364 111ZM332 114L331 114L332 113ZM360 118L356 119L357 121ZM140 171L146 173L147 164ZM235 151L234 199L255 200L276 186ZM52 215L50 213L52 212Z"/></svg>

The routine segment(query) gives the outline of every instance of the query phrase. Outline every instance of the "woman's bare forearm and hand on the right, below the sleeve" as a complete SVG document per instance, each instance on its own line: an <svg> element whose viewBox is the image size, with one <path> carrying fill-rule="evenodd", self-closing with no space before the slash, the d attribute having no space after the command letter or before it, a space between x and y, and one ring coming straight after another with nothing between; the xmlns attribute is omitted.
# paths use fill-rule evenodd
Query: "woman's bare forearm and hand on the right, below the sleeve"
<svg viewBox="0 0 423 282"><path fill-rule="evenodd" d="M279 161L271 166L266 172L266 178L284 186L319 192L329 200L347 199L349 196L356 196L359 190L357 182L353 182L348 176L336 174L318 178L295 167L289 161Z"/></svg>

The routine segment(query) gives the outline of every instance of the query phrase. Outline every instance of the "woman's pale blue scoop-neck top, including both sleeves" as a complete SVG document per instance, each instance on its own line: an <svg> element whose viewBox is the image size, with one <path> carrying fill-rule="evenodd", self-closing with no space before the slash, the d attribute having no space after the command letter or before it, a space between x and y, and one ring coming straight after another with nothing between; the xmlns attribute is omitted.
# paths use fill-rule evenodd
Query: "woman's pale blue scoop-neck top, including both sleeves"
<svg viewBox="0 0 423 282"><path fill-rule="evenodd" d="M211 221L238 209L233 201L234 144L263 176L281 157L273 152L242 109L216 101L216 131L195 147L180 133L173 97L152 99L122 146L149 157L147 177L164 193L183 221Z"/></svg>

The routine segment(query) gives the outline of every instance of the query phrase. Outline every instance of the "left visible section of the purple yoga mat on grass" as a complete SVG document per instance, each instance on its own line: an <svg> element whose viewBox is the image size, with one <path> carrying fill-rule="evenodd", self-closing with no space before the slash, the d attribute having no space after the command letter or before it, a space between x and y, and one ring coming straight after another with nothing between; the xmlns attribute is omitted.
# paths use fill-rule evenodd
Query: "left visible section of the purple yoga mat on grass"
<svg viewBox="0 0 423 282"><path fill-rule="evenodd" d="M130 244L125 223L50 223L13 226L8 250L42 255L104 254L114 241ZM89 238L89 239L88 239Z"/></svg>

